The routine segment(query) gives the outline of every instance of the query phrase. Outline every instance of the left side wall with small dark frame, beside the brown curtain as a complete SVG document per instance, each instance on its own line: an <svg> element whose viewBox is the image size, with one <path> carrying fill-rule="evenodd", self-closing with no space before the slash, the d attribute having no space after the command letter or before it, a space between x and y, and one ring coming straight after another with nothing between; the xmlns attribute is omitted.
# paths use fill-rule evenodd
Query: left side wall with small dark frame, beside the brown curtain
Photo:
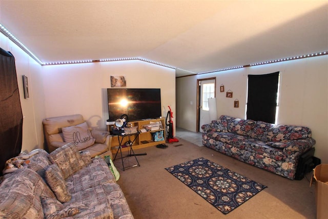
<svg viewBox="0 0 328 219"><path fill-rule="evenodd" d="M42 118L45 116L45 107L43 84L40 83L41 66L2 33L0 33L0 47L10 51L15 57L20 104L24 117L22 151L43 148ZM24 98L23 75L28 77L30 89L28 99Z"/></svg>

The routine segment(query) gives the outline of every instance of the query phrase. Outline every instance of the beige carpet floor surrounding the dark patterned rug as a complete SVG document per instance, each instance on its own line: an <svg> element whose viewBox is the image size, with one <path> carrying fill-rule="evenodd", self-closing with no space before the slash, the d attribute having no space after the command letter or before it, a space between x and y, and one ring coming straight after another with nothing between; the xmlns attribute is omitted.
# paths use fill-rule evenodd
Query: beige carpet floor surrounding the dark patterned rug
<svg viewBox="0 0 328 219"><path fill-rule="evenodd" d="M136 153L147 152L146 156L137 156L140 167L122 171L121 160L114 162L120 172L117 183L125 193L135 219L316 217L315 189L310 187L306 178L288 180L207 147L179 140L178 143L167 144L167 149L149 147L136 150ZM268 188L224 215L164 169L201 156ZM125 164L129 162L130 165L136 163L134 157L129 157ZM311 173L306 176L311 178Z"/></svg>

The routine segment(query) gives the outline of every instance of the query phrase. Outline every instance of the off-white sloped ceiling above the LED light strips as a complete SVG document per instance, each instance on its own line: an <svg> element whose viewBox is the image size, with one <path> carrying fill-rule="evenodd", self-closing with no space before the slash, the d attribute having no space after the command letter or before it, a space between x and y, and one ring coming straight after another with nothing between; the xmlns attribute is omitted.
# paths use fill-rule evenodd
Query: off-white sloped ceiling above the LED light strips
<svg viewBox="0 0 328 219"><path fill-rule="evenodd" d="M199 73L328 51L326 0L0 0L0 24L43 63L142 57Z"/></svg>

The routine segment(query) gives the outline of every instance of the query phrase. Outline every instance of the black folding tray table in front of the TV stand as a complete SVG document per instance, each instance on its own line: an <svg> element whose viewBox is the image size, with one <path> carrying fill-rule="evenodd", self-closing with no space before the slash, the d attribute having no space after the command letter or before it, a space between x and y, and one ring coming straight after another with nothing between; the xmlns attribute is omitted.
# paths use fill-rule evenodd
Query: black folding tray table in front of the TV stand
<svg viewBox="0 0 328 219"><path fill-rule="evenodd" d="M116 156L117 156L117 153L119 151L120 154L121 154L121 157L120 158L121 158L121 161L122 161L123 171L125 171L125 169L131 168L131 167L136 167L136 166L139 166L140 167L140 164L139 164L138 159L136 157L137 154L134 153L134 150L132 148L132 144L135 142L135 140L137 139L137 137L139 136L139 134L140 134L140 132L133 133L133 134L125 134L125 133L119 133L119 134L117 134L119 147L118 147L118 150L116 151L116 154L115 154L115 157L114 157L114 160L113 161L115 161ZM129 138L130 145L128 147L130 147L130 150L128 149L128 154L126 156L123 156L122 155L122 142L123 142L123 140L124 140L125 137L128 137ZM132 141L131 141L131 139L132 139ZM129 156L134 156L134 158L135 158L135 160L137 161L138 164L125 167L124 166L124 160L123 160L123 158L129 157Z"/></svg>

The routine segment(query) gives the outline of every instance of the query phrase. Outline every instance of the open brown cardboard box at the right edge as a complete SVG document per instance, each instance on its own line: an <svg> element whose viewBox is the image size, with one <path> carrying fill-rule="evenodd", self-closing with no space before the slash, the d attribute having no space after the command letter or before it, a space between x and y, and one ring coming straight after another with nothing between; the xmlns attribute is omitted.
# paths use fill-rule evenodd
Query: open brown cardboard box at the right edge
<svg viewBox="0 0 328 219"><path fill-rule="evenodd" d="M310 186L315 182L317 219L328 218L328 164L320 164L313 170Z"/></svg>

